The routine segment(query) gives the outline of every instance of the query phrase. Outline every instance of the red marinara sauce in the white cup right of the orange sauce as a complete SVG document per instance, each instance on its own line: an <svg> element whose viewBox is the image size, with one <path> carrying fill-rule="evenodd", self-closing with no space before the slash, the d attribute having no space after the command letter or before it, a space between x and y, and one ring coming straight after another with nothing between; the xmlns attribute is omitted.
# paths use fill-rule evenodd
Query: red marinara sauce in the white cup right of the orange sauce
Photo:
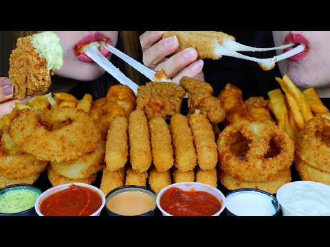
<svg viewBox="0 0 330 247"><path fill-rule="evenodd" d="M211 216L221 209L221 202L206 191L177 187L166 190L159 201L160 206L175 216Z"/></svg>

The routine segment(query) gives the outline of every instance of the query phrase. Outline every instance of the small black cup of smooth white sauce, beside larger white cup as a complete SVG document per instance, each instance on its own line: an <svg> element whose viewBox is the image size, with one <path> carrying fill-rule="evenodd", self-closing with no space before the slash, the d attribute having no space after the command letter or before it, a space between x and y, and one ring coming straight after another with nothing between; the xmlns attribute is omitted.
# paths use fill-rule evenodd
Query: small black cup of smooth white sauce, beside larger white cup
<svg viewBox="0 0 330 247"><path fill-rule="evenodd" d="M260 189L235 189L225 198L228 216L276 216L281 211L276 197Z"/></svg>

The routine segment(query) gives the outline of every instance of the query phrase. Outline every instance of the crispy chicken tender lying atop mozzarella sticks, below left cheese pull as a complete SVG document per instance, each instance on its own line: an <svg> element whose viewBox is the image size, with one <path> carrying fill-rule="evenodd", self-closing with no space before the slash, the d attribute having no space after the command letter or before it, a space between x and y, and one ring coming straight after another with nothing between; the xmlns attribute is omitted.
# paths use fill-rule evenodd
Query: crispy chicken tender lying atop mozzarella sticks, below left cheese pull
<svg viewBox="0 0 330 247"><path fill-rule="evenodd" d="M180 113L186 91L174 82L147 82L137 89L136 108L144 110L148 120L153 117L169 119Z"/></svg>

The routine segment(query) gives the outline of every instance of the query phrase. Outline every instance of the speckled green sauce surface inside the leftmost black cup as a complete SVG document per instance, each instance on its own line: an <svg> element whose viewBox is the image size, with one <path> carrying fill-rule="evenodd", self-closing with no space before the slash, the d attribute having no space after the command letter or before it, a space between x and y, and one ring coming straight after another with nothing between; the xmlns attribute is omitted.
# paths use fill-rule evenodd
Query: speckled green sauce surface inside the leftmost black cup
<svg viewBox="0 0 330 247"><path fill-rule="evenodd" d="M0 193L0 213L19 213L34 207L41 191L17 187Z"/></svg>

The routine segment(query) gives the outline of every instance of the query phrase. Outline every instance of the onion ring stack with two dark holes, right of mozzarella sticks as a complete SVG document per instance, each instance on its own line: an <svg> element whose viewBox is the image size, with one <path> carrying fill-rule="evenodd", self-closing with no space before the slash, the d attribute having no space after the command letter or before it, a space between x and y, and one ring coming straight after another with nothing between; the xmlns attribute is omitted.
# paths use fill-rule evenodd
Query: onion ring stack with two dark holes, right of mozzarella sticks
<svg viewBox="0 0 330 247"><path fill-rule="evenodd" d="M230 124L219 134L217 149L219 179L228 189L257 186L274 193L291 180L287 171L294 161L294 142L272 121Z"/></svg>

